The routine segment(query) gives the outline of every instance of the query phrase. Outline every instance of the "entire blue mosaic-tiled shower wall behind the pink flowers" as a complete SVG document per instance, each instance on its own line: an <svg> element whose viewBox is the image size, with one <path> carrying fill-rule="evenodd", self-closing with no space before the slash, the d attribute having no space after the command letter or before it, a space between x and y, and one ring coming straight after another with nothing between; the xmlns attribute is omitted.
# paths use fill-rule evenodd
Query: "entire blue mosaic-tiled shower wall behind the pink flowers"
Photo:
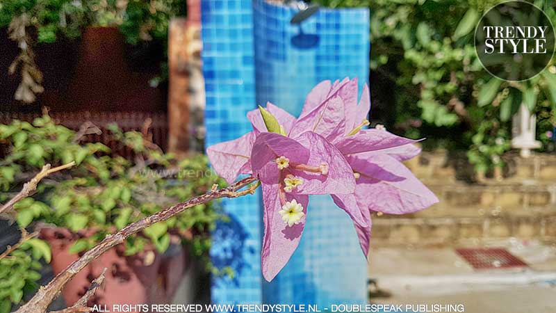
<svg viewBox="0 0 556 313"><path fill-rule="evenodd" d="M301 29L289 23L295 12L261 0L202 1L206 145L250 131L245 113L256 104L270 101L297 115L322 80L366 82L368 10L320 10ZM365 258L350 219L329 197L311 198L300 247L271 283L260 269L260 195L224 205L232 222L218 225L211 257L238 271L233 280L213 280L213 303L366 300Z"/></svg>

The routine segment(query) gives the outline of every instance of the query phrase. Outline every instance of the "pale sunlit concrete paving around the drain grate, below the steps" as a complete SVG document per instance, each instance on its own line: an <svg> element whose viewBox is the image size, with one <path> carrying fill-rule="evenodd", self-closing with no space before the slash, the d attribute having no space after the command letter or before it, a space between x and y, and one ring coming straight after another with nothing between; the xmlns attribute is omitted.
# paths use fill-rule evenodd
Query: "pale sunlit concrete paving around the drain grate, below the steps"
<svg viewBox="0 0 556 313"><path fill-rule="evenodd" d="M391 296L370 300L463 304L468 313L556 312L556 245L507 239L481 246L507 248L530 266L475 270L454 247L372 248L368 275Z"/></svg>

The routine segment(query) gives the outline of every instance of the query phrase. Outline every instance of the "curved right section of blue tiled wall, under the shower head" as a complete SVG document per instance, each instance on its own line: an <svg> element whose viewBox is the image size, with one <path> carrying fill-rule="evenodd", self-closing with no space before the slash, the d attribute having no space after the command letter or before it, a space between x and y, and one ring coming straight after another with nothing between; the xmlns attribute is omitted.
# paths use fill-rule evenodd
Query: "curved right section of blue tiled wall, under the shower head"
<svg viewBox="0 0 556 313"><path fill-rule="evenodd" d="M301 26L297 12L254 1L256 100L301 112L311 88L325 79L368 79L369 15L366 9L324 10ZM366 300L366 260L352 221L329 196L313 196L307 223L290 262L271 283L265 303L330 305Z"/></svg>

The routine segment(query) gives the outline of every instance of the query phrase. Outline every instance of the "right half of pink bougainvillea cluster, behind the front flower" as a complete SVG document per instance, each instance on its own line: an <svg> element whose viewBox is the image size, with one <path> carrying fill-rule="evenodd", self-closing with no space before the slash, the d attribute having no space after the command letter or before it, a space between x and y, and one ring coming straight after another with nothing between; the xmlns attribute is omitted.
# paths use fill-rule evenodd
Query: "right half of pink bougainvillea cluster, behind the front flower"
<svg viewBox="0 0 556 313"><path fill-rule="evenodd" d="M370 124L370 95L365 85L357 104L357 89L357 79L318 84L307 96L291 133L315 131L326 136L350 164L357 183L354 193L332 194L332 198L350 216L363 217L364 223L352 219L366 255L370 212L407 214L439 200L401 163L420 153L412 145L416 141L391 134L382 125L365 129Z"/></svg>

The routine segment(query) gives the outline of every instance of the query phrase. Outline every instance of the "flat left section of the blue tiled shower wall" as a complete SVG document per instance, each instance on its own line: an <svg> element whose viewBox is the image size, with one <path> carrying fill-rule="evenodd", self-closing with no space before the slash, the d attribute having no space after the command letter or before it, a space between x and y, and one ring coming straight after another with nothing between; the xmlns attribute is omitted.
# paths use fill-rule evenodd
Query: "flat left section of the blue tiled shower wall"
<svg viewBox="0 0 556 313"><path fill-rule="evenodd" d="M206 146L251 131L245 118L255 106L251 1L202 0ZM261 204L259 195L223 200L229 223L213 232L211 259L231 266L234 278L213 278L213 303L261 303Z"/></svg>

